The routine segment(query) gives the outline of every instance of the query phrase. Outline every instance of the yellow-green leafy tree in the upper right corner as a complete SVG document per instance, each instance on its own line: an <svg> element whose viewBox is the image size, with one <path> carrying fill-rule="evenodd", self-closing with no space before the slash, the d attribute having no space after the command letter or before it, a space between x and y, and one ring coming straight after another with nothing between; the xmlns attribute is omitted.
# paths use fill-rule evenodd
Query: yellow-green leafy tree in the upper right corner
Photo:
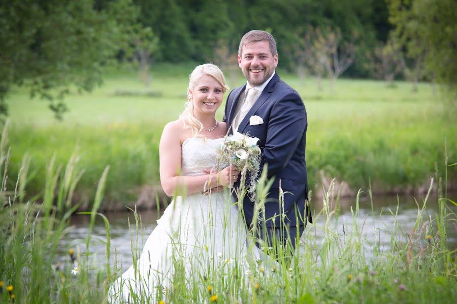
<svg viewBox="0 0 457 304"><path fill-rule="evenodd" d="M457 93L457 2L388 0L394 34L411 59L423 58L429 78ZM417 62L419 63L419 61Z"/></svg>

